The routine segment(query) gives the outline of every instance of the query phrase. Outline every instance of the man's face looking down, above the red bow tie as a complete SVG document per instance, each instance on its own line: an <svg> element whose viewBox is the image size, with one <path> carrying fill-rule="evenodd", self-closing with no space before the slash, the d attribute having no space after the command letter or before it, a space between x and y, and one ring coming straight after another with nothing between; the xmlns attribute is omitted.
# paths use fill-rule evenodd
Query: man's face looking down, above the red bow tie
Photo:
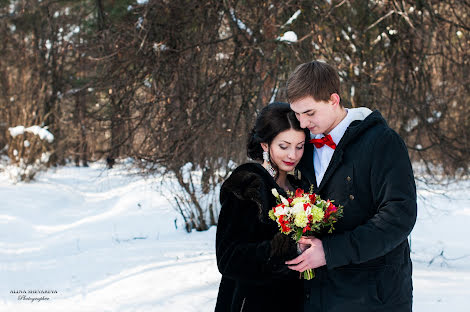
<svg viewBox="0 0 470 312"><path fill-rule="evenodd" d="M328 101L316 101L307 96L290 104L291 109L302 128L307 128L312 134L330 133L342 119L339 97L333 95Z"/></svg>

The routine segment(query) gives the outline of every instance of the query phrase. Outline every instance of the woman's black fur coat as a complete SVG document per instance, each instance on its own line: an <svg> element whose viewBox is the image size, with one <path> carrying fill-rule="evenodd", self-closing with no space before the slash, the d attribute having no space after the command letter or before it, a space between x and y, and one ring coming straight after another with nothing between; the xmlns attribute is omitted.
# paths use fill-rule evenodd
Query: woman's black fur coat
<svg viewBox="0 0 470 312"><path fill-rule="evenodd" d="M288 177L295 187L309 187ZM295 241L279 233L276 222L268 217L276 205L273 188L286 196L255 163L235 169L221 187L216 255L222 280L217 312L302 310L302 281L298 272L284 264L297 255ZM281 252L273 254L274 250Z"/></svg>

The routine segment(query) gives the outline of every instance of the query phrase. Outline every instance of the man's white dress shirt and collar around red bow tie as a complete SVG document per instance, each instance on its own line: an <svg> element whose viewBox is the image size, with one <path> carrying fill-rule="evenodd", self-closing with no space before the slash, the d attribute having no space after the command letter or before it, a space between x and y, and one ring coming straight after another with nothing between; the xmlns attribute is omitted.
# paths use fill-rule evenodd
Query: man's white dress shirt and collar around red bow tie
<svg viewBox="0 0 470 312"><path fill-rule="evenodd" d="M349 125L355 120L364 120L370 113L372 113L372 111L366 107L346 108L346 117L329 133L333 142L338 145ZM320 139L324 136L323 134L310 134L311 139ZM315 168L317 187L320 186L334 152L335 150L327 145L320 148L314 147L313 149L313 167Z"/></svg>

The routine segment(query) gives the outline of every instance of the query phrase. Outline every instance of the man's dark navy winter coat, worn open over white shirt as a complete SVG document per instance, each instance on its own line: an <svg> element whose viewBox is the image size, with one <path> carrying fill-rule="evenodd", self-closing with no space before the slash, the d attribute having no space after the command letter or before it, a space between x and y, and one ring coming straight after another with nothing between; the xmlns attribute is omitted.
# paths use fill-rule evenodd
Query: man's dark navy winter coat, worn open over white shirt
<svg viewBox="0 0 470 312"><path fill-rule="evenodd" d="M411 311L416 187L403 140L375 111L348 127L319 187L313 145L298 168L344 206L333 234L320 235L327 264L305 282L305 311Z"/></svg>

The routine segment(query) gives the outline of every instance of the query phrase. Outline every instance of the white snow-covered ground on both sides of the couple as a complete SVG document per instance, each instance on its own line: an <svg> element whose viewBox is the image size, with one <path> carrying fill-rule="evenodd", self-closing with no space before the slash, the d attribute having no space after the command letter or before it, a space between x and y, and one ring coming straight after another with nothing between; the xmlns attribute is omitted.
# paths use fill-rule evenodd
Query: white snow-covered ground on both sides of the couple
<svg viewBox="0 0 470 312"><path fill-rule="evenodd" d="M0 311L213 311L216 228L186 233L156 185L102 163L0 172ZM413 310L469 311L470 181L418 185Z"/></svg>

